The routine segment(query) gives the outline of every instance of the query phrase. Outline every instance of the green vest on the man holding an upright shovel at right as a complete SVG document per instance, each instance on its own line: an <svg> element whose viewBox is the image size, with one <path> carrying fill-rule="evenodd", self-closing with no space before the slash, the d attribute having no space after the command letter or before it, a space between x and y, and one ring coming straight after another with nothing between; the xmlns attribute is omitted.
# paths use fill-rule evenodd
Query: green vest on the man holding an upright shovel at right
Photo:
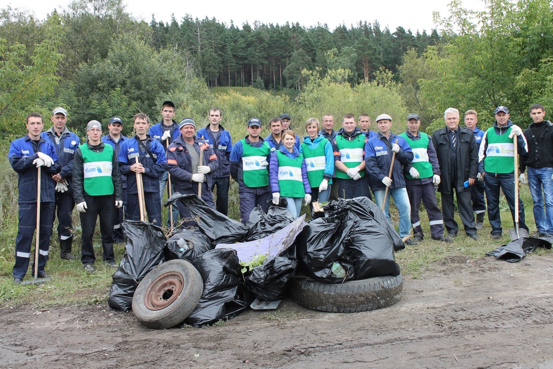
<svg viewBox="0 0 553 369"><path fill-rule="evenodd" d="M503 134L495 133L495 128L488 128L486 138L488 148L484 157L484 170L489 173L511 173L515 170L513 139L509 138L511 127Z"/></svg>

